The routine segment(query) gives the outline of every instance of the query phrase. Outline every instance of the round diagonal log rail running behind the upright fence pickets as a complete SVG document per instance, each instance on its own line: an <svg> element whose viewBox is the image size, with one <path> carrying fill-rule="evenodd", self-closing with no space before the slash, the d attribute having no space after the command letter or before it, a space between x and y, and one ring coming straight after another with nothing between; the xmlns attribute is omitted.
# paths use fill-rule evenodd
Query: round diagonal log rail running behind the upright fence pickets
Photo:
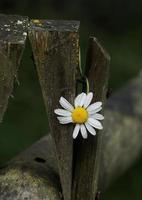
<svg viewBox="0 0 142 200"><path fill-rule="evenodd" d="M122 175L142 153L142 75L106 105L100 182ZM87 184L87 182L86 182ZM44 137L0 171L1 200L61 200L52 138Z"/></svg>

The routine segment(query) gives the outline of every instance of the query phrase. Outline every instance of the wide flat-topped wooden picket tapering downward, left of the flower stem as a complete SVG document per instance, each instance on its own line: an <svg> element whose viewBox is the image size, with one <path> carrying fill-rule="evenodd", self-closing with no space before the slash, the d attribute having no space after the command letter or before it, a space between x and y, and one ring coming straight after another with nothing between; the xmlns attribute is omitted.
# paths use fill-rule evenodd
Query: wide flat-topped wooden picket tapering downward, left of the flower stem
<svg viewBox="0 0 142 200"><path fill-rule="evenodd" d="M79 65L77 21L32 20L29 37L53 136L65 200L71 199L72 125L61 125L54 109L65 97L73 103Z"/></svg>

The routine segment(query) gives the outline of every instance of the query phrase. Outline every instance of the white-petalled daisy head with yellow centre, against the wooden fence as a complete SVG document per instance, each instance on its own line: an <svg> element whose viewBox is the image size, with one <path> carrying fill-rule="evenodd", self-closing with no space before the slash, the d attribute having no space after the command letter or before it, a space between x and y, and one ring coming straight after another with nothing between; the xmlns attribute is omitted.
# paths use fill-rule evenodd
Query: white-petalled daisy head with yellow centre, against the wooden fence
<svg viewBox="0 0 142 200"><path fill-rule="evenodd" d="M64 109L55 109L54 112L59 115L57 119L61 124L74 123L73 138L75 139L81 132L84 139L88 133L96 135L96 130L102 130L103 126L99 120L103 120L104 116L98 112L102 110L102 102L95 102L90 105L93 99L93 93L88 94L82 92L74 100L72 106L64 97L59 100L60 105Z"/></svg>

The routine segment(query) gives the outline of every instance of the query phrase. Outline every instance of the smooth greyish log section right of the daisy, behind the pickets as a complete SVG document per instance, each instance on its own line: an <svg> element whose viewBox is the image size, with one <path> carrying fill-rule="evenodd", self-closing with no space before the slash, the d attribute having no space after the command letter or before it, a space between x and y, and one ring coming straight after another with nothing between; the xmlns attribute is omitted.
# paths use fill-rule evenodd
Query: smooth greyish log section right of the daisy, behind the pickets
<svg viewBox="0 0 142 200"><path fill-rule="evenodd" d="M103 190L142 155L142 72L108 100L104 122Z"/></svg>

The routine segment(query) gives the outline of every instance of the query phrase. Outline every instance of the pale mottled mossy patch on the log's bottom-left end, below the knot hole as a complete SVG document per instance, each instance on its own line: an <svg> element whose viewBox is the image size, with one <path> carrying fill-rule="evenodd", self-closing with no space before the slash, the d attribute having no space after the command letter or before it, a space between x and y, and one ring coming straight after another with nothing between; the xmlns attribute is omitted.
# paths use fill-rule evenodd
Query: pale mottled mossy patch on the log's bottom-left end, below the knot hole
<svg viewBox="0 0 142 200"><path fill-rule="evenodd" d="M33 170L34 171L34 170ZM7 168L0 175L0 198L14 200L60 200L59 190L48 177L34 175L33 171Z"/></svg>

